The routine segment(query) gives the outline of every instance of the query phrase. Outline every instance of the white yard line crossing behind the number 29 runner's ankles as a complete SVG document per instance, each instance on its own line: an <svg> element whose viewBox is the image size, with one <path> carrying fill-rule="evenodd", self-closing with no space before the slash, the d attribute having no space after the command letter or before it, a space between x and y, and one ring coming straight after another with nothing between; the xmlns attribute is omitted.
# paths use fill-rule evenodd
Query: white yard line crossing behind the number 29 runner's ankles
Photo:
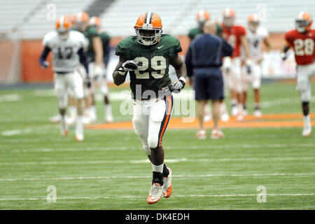
<svg viewBox="0 0 315 224"><path fill-rule="evenodd" d="M315 173L297 174L200 174L200 175L172 175L176 179L194 179L204 177L253 177L253 176L314 176ZM0 182L15 181L70 181L70 180L99 180L99 179L150 179L152 176L69 176L52 178L24 178L24 179L0 179Z"/></svg>

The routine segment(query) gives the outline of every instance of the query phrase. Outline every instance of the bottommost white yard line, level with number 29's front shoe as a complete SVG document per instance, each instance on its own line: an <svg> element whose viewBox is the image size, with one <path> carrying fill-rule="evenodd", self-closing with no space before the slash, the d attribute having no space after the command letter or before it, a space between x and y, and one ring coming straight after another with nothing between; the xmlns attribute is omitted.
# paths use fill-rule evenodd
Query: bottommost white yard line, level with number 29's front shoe
<svg viewBox="0 0 315 224"><path fill-rule="evenodd" d="M266 196L314 196L315 193L295 193L295 194L266 194ZM172 197L255 197L257 194L236 194L236 195L172 195ZM111 195L97 197L64 196L56 197L57 200L97 200L97 199L115 199L115 198L146 198L146 196L134 195ZM47 197L20 197L20 198L0 198L0 201L38 201L47 200Z"/></svg>

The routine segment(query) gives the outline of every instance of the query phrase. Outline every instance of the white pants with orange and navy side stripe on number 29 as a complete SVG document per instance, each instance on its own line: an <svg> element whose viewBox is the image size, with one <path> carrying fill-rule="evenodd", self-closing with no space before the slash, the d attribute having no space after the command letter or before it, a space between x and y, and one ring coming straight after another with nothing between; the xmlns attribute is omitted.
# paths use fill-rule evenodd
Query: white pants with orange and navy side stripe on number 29
<svg viewBox="0 0 315 224"><path fill-rule="evenodd" d="M172 109L172 95L160 99L134 100L132 124L147 155L151 155L151 148L162 146L162 138L171 118Z"/></svg>

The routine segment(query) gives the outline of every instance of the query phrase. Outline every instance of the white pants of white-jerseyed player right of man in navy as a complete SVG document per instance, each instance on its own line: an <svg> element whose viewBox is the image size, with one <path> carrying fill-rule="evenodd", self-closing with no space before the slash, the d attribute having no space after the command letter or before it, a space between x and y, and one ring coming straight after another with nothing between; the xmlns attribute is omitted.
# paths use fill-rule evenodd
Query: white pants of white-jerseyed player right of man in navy
<svg viewBox="0 0 315 224"><path fill-rule="evenodd" d="M254 90L258 90L261 86L261 74L262 69L260 64L254 62L251 66L251 73L246 72L246 66L241 68L242 73L242 82L243 82L243 90L248 90L248 84L251 83L251 87Z"/></svg>

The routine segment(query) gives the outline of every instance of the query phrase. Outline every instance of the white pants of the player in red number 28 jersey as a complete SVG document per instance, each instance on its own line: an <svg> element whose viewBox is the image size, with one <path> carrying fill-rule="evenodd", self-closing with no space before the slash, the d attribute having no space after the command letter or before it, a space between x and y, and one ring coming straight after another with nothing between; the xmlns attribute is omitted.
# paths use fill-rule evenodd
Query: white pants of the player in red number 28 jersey
<svg viewBox="0 0 315 224"><path fill-rule="evenodd" d="M311 101L311 76L315 76L315 63L297 65L297 88L302 102Z"/></svg>

